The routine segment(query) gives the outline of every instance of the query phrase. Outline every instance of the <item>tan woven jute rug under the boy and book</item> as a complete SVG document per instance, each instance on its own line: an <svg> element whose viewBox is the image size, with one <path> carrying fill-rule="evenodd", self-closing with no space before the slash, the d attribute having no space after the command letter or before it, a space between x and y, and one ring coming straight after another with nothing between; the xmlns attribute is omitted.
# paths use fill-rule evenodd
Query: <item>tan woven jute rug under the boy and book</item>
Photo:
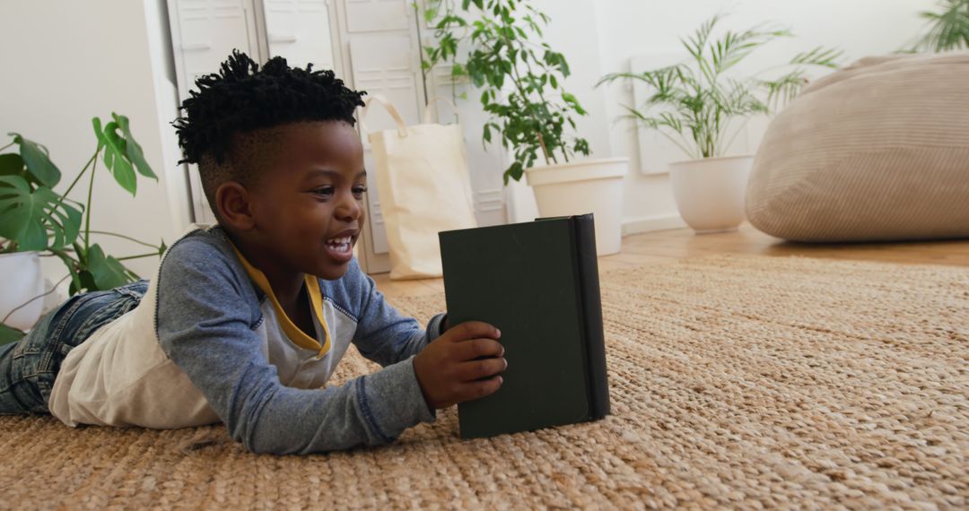
<svg viewBox="0 0 969 511"><path fill-rule="evenodd" d="M0 420L4 508L969 505L969 270L801 258L602 276L612 412L461 440L256 456L223 427ZM443 296L395 300L425 319ZM336 381L372 371L352 353Z"/></svg>

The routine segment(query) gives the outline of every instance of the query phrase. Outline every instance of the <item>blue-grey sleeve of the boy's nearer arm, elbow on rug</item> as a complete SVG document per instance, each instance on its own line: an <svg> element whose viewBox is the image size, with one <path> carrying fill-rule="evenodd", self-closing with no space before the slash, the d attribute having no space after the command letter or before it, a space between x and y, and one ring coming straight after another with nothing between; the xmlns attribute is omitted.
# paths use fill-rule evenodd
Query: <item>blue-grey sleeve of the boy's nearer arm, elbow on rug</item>
<svg viewBox="0 0 969 511"><path fill-rule="evenodd" d="M340 387L282 385L254 330L259 319L253 317L252 285L232 259L206 243L187 239L172 247L158 293L162 348L230 435L252 452L311 453L386 443L433 420L412 357Z"/></svg>

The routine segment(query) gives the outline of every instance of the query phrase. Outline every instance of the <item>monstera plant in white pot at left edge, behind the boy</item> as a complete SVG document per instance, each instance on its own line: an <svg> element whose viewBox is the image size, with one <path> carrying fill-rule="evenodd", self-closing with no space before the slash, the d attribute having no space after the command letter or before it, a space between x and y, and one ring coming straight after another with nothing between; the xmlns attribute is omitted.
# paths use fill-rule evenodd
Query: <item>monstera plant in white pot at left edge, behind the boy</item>
<svg viewBox="0 0 969 511"><path fill-rule="evenodd" d="M165 252L160 246L134 238L91 229L91 204L94 177L101 156L114 180L131 195L137 192L137 174L157 180L144 160L141 146L131 134L130 123L123 115L111 114L112 120L102 127L92 120L98 140L94 155L63 193L54 191L61 172L50 161L47 148L18 134L0 151L17 146L16 152L0 154L0 344L16 341L23 330L37 321L43 306L40 256L60 258L71 279L70 294L122 286L138 279L121 261ZM85 173L90 172L86 200L80 202L68 195ZM124 238L151 249L148 254L115 258L106 255L92 235ZM8 277L9 276L9 277ZM59 285L60 283L58 283ZM56 287L57 285L55 285Z"/></svg>

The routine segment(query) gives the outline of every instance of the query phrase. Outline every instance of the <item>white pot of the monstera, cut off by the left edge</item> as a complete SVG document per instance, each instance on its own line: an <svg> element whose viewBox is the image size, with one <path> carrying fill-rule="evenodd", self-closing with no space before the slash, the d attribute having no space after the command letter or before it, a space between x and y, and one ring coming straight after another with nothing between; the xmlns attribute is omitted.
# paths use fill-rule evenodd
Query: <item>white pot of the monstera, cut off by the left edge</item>
<svg viewBox="0 0 969 511"><path fill-rule="evenodd" d="M16 252L0 255L0 319L44 292L41 257L36 252ZM34 326L44 310L44 299L38 298L7 318L6 324L28 330Z"/></svg>

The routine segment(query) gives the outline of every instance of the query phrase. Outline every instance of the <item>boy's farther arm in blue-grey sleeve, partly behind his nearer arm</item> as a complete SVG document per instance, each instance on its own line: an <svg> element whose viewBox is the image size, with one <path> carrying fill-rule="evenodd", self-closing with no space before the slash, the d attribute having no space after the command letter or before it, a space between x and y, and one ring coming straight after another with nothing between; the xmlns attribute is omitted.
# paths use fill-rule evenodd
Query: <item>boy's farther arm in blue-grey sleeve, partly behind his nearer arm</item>
<svg viewBox="0 0 969 511"><path fill-rule="evenodd" d="M356 261L347 272L359 292L359 323L354 344L360 354L382 366L405 360L444 334L447 314L431 317L426 328L417 319L402 316L384 299L377 285L360 271Z"/></svg>

